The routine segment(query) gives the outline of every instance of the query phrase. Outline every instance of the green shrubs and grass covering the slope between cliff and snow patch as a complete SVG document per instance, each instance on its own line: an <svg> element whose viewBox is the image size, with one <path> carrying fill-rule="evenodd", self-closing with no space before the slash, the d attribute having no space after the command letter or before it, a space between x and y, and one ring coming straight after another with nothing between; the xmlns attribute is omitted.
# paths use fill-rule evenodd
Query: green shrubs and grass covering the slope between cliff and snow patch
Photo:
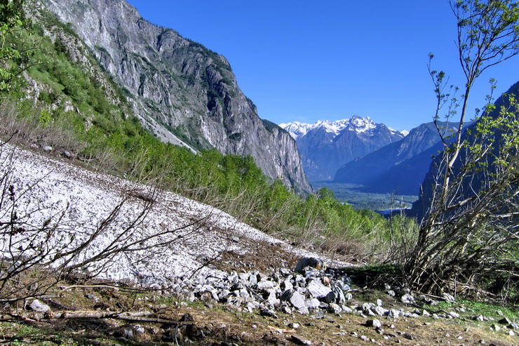
<svg viewBox="0 0 519 346"><path fill-rule="evenodd" d="M158 184L344 260L398 262L416 244L413 220L355 211L327 188L301 197L262 175L252 157L215 149L193 154L161 142L132 115L124 91L109 81L88 48L52 15L43 13L32 26L6 32L5 38L14 51L30 54L2 60L27 72L25 86L4 88L4 138L16 133L15 140L26 145L50 145L53 152L69 152L65 156L94 169ZM83 58L77 59L77 53ZM490 279L485 288L517 298L511 288L502 292L495 283Z"/></svg>

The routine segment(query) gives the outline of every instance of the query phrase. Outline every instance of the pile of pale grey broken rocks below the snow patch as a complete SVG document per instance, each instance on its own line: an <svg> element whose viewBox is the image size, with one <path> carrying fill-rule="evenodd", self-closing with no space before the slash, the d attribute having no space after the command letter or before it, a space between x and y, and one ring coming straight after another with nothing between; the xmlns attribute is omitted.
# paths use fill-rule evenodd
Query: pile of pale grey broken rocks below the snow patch
<svg viewBox="0 0 519 346"><path fill-rule="evenodd" d="M173 291L187 300L216 300L236 310L259 310L276 317L275 311L287 314L352 312L346 302L353 298L349 277L326 269L321 260L303 258L297 272L281 269L269 276L257 271L205 279L181 279Z"/></svg>

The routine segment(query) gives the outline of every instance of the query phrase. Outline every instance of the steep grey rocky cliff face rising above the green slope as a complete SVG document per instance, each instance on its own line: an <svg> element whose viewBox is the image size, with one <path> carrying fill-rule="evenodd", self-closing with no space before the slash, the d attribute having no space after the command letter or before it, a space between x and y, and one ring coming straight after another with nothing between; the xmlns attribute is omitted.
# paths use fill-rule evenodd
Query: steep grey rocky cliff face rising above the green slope
<svg viewBox="0 0 519 346"><path fill-rule="evenodd" d="M42 0L93 51L163 140L225 154L250 154L271 178L310 191L295 141L262 121L229 62L144 20L123 0Z"/></svg>

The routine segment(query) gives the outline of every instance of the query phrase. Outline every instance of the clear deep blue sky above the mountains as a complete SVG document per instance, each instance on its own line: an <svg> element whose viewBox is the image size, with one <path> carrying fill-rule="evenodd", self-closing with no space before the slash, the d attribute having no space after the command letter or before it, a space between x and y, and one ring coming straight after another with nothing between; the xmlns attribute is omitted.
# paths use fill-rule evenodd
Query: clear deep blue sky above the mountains
<svg viewBox="0 0 519 346"><path fill-rule="evenodd" d="M431 121L427 72L460 87L456 23L447 0L130 0L142 17L224 55L238 85L276 124L369 116L397 130ZM489 69L497 95L519 80L519 57Z"/></svg>

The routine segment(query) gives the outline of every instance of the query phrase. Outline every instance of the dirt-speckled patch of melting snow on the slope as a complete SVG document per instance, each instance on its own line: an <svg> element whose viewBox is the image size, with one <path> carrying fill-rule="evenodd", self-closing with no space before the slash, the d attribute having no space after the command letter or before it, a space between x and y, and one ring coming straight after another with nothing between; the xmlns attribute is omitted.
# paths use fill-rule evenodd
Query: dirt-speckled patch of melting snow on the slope
<svg viewBox="0 0 519 346"><path fill-rule="evenodd" d="M4 258L12 258L12 241L25 253L31 251L31 246L45 248L47 256L77 246L88 239L125 198L114 220L81 256L69 258L71 263L91 258L114 244L128 246L132 251L95 262L88 270L107 279L166 286L173 278L194 273L204 277L226 275L203 263L226 249L240 253L250 251L246 241L229 240L234 236L279 244L296 255L322 258L270 237L211 206L11 145L0 146L0 173L7 171L11 172L8 185L13 187L19 222L34 228L50 220L50 225L54 222L57 228L48 239L45 234L29 239L27 235L4 232L0 239L0 255ZM149 194L154 194L156 201L147 209L145 200ZM128 230L136 215L143 211L140 222ZM8 220L10 215L8 208L1 208L0 222ZM18 251L18 247L14 250Z"/></svg>

